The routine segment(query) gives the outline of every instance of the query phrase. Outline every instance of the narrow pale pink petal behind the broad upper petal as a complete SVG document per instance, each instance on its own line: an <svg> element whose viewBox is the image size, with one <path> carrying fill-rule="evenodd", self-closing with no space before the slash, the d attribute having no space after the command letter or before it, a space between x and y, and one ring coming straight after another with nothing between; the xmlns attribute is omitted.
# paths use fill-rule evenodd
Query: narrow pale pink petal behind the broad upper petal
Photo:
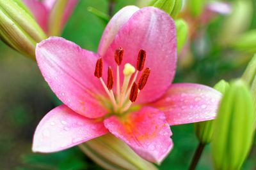
<svg viewBox="0 0 256 170"><path fill-rule="evenodd" d="M119 10L113 16L113 18L111 18L102 34L102 38L100 39L100 45L98 49L98 53L100 55L104 55L104 53L106 53L106 50L108 50L109 45L112 43L119 29L138 10L140 10L140 8L137 6L125 6Z"/></svg>

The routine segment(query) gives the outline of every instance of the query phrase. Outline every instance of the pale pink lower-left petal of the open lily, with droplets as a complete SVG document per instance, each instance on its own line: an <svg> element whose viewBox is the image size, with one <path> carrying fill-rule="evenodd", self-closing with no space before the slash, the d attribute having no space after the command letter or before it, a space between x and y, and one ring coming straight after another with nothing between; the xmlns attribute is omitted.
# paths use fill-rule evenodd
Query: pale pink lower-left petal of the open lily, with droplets
<svg viewBox="0 0 256 170"><path fill-rule="evenodd" d="M108 133L102 122L78 115L64 104L51 110L36 127L33 152L57 152Z"/></svg>

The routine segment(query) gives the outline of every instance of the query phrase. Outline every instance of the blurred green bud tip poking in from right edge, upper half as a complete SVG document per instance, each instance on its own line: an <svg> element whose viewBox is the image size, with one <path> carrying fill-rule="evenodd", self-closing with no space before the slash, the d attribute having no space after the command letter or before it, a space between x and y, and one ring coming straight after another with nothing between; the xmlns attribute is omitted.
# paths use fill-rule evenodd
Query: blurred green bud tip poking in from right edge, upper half
<svg viewBox="0 0 256 170"><path fill-rule="evenodd" d="M244 32L232 44L233 48L247 53L256 53L256 29Z"/></svg>

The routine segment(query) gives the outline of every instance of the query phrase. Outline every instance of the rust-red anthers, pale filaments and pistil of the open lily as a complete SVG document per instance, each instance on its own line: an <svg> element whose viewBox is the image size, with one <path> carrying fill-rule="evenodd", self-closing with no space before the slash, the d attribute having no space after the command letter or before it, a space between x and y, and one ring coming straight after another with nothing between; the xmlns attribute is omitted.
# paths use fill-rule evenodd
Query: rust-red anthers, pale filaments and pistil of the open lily
<svg viewBox="0 0 256 170"><path fill-rule="evenodd" d="M94 75L99 78L104 90L108 94L108 97L111 101L114 113L124 113L125 111L131 108L132 103L134 103L138 97L140 91L145 87L148 76L150 74L150 68L144 69L143 73L136 83L138 73L143 70L145 60L146 60L146 52L144 50L140 50L138 53L136 69L129 63L126 63L124 66L123 74L124 81L122 85L120 85L120 71L119 66L122 64L124 56L124 50L119 48L115 51L115 62L116 62L116 94L113 92L114 85L114 76L113 69L108 67L108 80L107 84L104 83L102 79L102 71L103 71L103 61L100 57L95 66ZM132 80L131 76L134 74Z"/></svg>

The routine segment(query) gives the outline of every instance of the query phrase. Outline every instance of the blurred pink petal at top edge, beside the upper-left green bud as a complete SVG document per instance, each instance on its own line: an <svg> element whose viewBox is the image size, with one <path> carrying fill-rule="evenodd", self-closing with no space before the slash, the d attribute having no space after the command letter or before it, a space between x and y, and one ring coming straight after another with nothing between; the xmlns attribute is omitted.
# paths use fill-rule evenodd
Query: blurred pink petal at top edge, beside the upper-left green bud
<svg viewBox="0 0 256 170"><path fill-rule="evenodd" d="M36 0L22 0L24 4L29 8L36 22L42 27L42 29L47 32L48 29L48 18L49 11L45 8L44 4Z"/></svg>

